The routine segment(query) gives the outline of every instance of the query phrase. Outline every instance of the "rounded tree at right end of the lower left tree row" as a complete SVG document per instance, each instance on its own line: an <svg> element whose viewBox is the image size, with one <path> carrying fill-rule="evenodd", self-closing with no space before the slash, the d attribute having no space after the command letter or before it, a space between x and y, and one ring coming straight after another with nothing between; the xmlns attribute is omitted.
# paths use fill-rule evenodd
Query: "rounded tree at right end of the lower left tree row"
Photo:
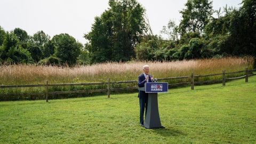
<svg viewBox="0 0 256 144"><path fill-rule="evenodd" d="M76 39L68 34L59 34L53 36L52 41L55 46L54 55L60 58L62 63L75 65L81 52L81 45L76 42Z"/></svg>

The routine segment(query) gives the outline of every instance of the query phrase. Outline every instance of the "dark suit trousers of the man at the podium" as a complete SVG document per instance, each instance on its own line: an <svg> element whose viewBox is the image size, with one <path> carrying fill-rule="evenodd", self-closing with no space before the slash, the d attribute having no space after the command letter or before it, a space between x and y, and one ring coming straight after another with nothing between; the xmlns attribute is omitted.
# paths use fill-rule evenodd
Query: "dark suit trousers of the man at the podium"
<svg viewBox="0 0 256 144"><path fill-rule="evenodd" d="M143 94L140 99L140 124L144 124L143 117L144 117L144 110L145 111L145 118L147 115L147 108L148 108L148 93Z"/></svg>

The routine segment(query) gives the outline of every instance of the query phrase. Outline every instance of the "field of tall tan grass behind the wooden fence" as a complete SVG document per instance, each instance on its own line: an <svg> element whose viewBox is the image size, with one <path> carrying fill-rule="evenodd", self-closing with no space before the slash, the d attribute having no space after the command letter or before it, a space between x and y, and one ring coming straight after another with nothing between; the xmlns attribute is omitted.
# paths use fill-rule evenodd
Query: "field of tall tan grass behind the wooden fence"
<svg viewBox="0 0 256 144"><path fill-rule="evenodd" d="M25 84L45 84L48 80L53 83L81 83L81 82L106 82L136 80L142 73L142 66L150 66L150 74L155 78L190 76L221 73L244 70L246 67L253 68L254 60L252 57L228 57L221 59L202 59L202 60L183 60L183 61L131 61L126 63L108 62L99 63L91 66L58 67L58 66L37 66L37 65L1 65L0 66L0 85L25 85ZM244 75L237 74L235 76ZM234 76L234 75L232 75ZM230 76L231 77L231 76ZM204 77L197 80L221 79L221 76ZM180 79L169 81L178 83L189 81ZM112 85L111 87L135 86L136 84ZM50 91L63 90L82 90L85 86L70 87L51 87ZM104 86L87 86L86 89L105 88ZM0 89L1 90L1 89ZM44 87L26 89L5 89L1 93L22 92L42 92Z"/></svg>

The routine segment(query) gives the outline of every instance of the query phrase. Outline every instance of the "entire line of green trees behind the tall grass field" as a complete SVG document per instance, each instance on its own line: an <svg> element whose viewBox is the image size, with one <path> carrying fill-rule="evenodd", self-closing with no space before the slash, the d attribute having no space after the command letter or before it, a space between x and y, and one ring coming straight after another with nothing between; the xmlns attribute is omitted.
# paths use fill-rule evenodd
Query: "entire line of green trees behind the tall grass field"
<svg viewBox="0 0 256 144"><path fill-rule="evenodd" d="M109 8L95 17L89 41L81 44L68 34L50 38L43 31L0 27L0 61L50 65L87 65L106 61L183 60L252 55L256 57L256 1L241 7L213 10L212 1L188 0L179 25L170 20L154 35L145 9L136 0L109 0ZM168 15L168 14L166 14ZM215 18L213 17L215 16ZM170 15L171 17L171 15Z"/></svg>

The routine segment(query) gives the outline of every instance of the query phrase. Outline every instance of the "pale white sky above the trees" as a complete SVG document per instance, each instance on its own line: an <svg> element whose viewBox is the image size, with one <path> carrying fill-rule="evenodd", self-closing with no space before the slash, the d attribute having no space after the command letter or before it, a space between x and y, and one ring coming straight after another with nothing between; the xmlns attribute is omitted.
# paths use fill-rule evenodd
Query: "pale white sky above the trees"
<svg viewBox="0 0 256 144"><path fill-rule="evenodd" d="M187 0L137 0L146 9L154 35L159 35L168 21L177 25L179 11ZM29 35L39 30L53 37L67 33L77 41L86 43L84 34L89 33L94 17L108 9L108 0L0 0L0 26L5 31L15 28L26 30ZM241 7L242 0L213 0L213 9L223 6Z"/></svg>

